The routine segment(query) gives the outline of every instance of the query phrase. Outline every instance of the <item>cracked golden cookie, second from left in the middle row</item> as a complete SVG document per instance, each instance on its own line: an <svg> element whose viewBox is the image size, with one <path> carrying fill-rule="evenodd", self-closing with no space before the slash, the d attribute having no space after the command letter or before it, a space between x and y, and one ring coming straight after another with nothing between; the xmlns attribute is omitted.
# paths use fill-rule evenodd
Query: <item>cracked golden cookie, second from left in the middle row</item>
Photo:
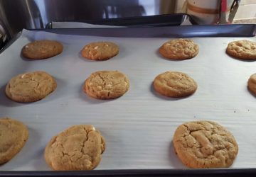
<svg viewBox="0 0 256 177"><path fill-rule="evenodd" d="M82 90L97 99L117 98L129 89L129 79L118 71L99 71L92 73Z"/></svg>

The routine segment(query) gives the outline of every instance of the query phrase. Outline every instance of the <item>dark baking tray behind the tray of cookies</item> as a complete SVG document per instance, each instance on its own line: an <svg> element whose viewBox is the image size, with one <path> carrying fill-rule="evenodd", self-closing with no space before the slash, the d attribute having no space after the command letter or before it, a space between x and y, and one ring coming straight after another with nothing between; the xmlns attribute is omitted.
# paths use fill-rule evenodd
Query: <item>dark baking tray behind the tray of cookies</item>
<svg viewBox="0 0 256 177"><path fill-rule="evenodd" d="M97 20L76 21L82 23L90 23L94 25L116 25L116 26L169 26L181 25L181 23L189 21L196 25L196 21L187 13L172 13L156 16L134 16L124 18L102 18ZM61 22L61 21L58 21ZM74 22L74 21L73 21ZM48 23L46 28L53 28L53 23Z"/></svg>

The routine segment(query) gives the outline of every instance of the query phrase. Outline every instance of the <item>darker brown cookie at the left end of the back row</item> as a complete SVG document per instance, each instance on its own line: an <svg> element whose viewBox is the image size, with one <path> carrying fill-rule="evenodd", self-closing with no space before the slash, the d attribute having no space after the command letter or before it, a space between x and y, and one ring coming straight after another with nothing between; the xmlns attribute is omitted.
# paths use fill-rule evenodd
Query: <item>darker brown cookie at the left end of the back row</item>
<svg viewBox="0 0 256 177"><path fill-rule="evenodd" d="M46 59L63 52L63 45L55 40L36 40L25 45L21 54L28 59Z"/></svg>

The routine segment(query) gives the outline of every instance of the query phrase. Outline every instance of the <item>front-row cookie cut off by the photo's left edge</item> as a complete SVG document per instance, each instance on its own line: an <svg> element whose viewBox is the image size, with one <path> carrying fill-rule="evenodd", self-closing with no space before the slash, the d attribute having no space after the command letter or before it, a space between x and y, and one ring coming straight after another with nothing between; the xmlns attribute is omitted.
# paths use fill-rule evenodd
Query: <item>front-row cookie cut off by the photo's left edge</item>
<svg viewBox="0 0 256 177"><path fill-rule="evenodd" d="M21 151L28 139L28 128L18 120L0 118L0 165Z"/></svg>

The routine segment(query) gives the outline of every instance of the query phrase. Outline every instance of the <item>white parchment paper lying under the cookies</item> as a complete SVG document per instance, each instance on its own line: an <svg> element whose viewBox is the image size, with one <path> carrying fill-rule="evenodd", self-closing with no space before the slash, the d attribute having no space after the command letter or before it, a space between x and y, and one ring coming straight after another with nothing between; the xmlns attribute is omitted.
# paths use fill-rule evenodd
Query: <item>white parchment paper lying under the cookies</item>
<svg viewBox="0 0 256 177"><path fill-rule="evenodd" d="M43 60L21 57L31 40L59 40L63 53ZM51 137L71 125L92 124L102 132L107 149L97 169L187 169L174 153L174 131L183 122L213 120L228 128L239 145L231 169L255 168L255 96L247 79L256 72L255 62L225 54L228 42L245 38L192 38L200 46L193 59L172 61L157 50L171 38L107 38L58 35L23 30L0 55L0 117L28 126L29 139L1 171L48 171L43 151ZM246 38L256 42L256 38ZM80 50L89 42L110 40L119 55L102 62L83 59ZM55 77L58 87L35 103L16 103L4 95L6 83L23 72L43 70ZM124 96L101 101L82 92L92 72L119 70L127 74L130 88ZM152 89L155 76L166 71L185 72L198 84L186 98L166 98Z"/></svg>

